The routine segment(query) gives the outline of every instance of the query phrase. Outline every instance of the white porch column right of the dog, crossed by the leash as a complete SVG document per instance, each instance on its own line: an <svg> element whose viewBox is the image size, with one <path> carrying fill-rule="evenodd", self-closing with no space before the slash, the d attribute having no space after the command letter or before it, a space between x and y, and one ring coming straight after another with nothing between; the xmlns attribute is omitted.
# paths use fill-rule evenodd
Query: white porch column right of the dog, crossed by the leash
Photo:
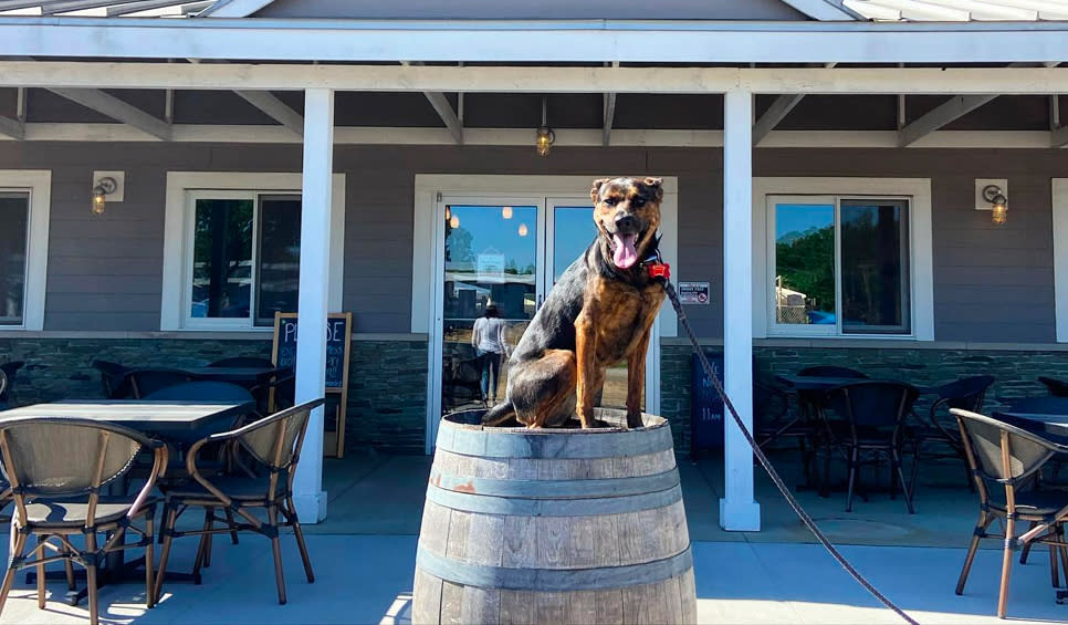
<svg viewBox="0 0 1068 625"><path fill-rule="evenodd" d="M723 376L745 427L753 428L753 94L731 91L723 113ZM753 451L724 415L724 530L757 531Z"/></svg>

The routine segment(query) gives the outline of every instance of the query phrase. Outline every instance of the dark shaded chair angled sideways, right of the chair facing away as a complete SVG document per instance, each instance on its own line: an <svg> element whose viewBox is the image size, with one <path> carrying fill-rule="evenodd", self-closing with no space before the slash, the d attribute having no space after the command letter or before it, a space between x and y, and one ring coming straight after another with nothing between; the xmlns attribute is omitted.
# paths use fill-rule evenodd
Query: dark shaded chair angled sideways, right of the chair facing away
<svg viewBox="0 0 1068 625"><path fill-rule="evenodd" d="M961 442L961 428L956 425L956 418L949 414L950 408L961 408L972 413L983 412L983 402L986 399L986 390L994 384L992 375L975 375L962 377L954 382L943 384L934 389L939 398L931 404L928 412L928 420L919 426L912 427L912 492L915 493L917 479L919 476L920 456L923 454L924 446L929 444L941 445L941 451L934 451L926 457L960 458L965 470L965 478L970 489L975 488L972 481L971 469L967 466L967 458L964 457L964 445ZM944 420L949 416L953 423ZM946 449L947 448L947 449Z"/></svg>

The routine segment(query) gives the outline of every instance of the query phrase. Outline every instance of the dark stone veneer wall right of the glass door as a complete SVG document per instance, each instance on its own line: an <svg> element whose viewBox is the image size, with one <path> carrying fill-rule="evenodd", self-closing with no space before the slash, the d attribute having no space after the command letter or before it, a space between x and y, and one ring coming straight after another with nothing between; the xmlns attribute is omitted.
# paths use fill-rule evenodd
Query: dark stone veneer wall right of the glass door
<svg viewBox="0 0 1068 625"><path fill-rule="evenodd" d="M709 347L722 351L722 347ZM661 348L661 413L671 421L676 449L690 451L689 344ZM1068 378L1068 351L899 348L899 347L775 347L754 346L755 375L762 379L792 375L813 365L838 365L860 369L871 377L901 379L931 386L970 375L993 375L987 408L998 397L1047 395L1039 375ZM921 396L917 409L926 409L930 396Z"/></svg>

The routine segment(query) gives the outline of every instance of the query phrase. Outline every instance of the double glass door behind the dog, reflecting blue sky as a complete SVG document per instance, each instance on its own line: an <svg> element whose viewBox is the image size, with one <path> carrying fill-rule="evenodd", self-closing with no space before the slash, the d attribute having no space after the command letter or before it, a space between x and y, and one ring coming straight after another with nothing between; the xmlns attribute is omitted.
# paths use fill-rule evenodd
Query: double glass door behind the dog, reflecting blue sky
<svg viewBox="0 0 1068 625"><path fill-rule="evenodd" d="M506 353L597 230L593 206L583 197L444 196L437 208L443 233L437 238L440 368L432 375L446 414L504 398ZM481 345L473 341L477 323L481 335L492 334ZM504 353L490 350L496 336ZM627 366L620 363L609 371L599 405L622 407L626 397Z"/></svg>

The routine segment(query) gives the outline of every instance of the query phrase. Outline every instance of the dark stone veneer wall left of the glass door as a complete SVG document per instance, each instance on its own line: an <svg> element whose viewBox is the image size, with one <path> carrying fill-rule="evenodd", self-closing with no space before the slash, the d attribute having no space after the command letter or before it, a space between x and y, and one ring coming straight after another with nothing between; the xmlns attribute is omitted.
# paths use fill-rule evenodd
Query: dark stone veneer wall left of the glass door
<svg viewBox="0 0 1068 625"><path fill-rule="evenodd" d="M101 358L127 366L203 366L230 356L271 356L271 341L202 338L0 338L0 363L24 361L17 405L103 396ZM345 449L422 454L427 342L354 340Z"/></svg>

